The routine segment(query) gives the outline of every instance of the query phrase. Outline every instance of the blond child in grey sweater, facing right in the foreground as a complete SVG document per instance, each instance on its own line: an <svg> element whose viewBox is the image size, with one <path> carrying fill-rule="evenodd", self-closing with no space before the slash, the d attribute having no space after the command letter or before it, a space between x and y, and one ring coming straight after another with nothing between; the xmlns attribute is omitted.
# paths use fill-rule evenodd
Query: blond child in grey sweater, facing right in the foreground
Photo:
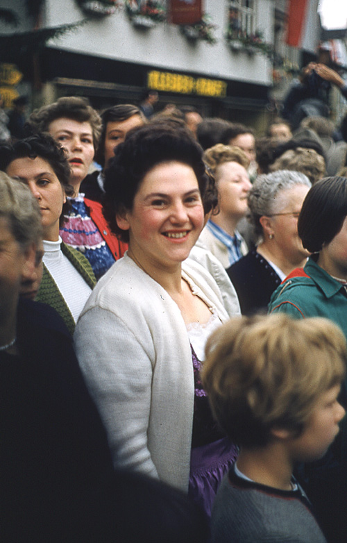
<svg viewBox="0 0 347 543"><path fill-rule="evenodd" d="M346 340L320 317L231 319L206 346L203 386L239 457L212 512L212 541L323 543L294 464L321 458L339 431Z"/></svg>

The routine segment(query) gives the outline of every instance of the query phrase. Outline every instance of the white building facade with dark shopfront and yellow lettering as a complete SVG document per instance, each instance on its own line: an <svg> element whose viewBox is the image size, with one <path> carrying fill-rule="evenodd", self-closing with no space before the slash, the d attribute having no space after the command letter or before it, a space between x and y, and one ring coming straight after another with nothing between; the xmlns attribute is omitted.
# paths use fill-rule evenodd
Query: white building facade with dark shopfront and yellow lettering
<svg viewBox="0 0 347 543"><path fill-rule="evenodd" d="M115 7L109 15L97 9L105 0L44 0L38 26L85 22L46 43L33 83L33 106L73 94L102 109L138 103L144 90L154 89L159 109L167 103L195 106L204 116L262 130L273 110L273 48L280 49L278 21L282 17L283 33L289 0L203 1L205 33L212 43L201 29L169 22L169 0L106 1ZM310 0L315 8L317 2ZM20 4L14 0L14 6ZM163 20L155 19L153 10L142 20L132 15L131 10L146 5L160 6ZM305 44L312 52L314 34ZM299 62L295 48L287 48L285 56Z"/></svg>

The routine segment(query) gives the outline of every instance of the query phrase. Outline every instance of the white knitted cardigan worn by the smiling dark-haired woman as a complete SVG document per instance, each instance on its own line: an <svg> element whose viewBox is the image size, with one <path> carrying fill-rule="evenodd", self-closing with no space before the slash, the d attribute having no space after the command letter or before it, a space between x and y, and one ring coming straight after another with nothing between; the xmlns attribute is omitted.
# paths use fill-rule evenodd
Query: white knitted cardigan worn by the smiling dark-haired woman
<svg viewBox="0 0 347 543"><path fill-rule="evenodd" d="M185 260L183 277L222 322L232 316L201 264ZM115 467L142 471L187 491L194 375L177 304L126 255L97 283L74 340Z"/></svg>

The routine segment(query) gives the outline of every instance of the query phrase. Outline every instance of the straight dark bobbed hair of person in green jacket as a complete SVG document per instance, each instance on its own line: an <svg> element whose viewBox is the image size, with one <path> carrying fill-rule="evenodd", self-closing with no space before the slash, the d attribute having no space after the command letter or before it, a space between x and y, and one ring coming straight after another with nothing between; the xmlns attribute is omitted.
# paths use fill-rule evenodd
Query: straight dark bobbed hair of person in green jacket
<svg viewBox="0 0 347 543"><path fill-rule="evenodd" d="M321 251L339 233L347 216L347 178L325 177L307 192L298 219L298 235L310 253Z"/></svg>

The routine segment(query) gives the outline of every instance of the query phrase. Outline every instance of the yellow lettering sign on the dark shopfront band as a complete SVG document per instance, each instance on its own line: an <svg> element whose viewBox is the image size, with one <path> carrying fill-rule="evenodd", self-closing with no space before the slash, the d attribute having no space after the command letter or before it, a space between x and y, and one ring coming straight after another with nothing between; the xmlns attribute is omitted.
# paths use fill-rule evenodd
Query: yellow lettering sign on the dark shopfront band
<svg viewBox="0 0 347 543"><path fill-rule="evenodd" d="M147 74L147 86L149 89L167 92L220 98L226 96L227 83L220 79L194 78L183 74L152 70Z"/></svg>

